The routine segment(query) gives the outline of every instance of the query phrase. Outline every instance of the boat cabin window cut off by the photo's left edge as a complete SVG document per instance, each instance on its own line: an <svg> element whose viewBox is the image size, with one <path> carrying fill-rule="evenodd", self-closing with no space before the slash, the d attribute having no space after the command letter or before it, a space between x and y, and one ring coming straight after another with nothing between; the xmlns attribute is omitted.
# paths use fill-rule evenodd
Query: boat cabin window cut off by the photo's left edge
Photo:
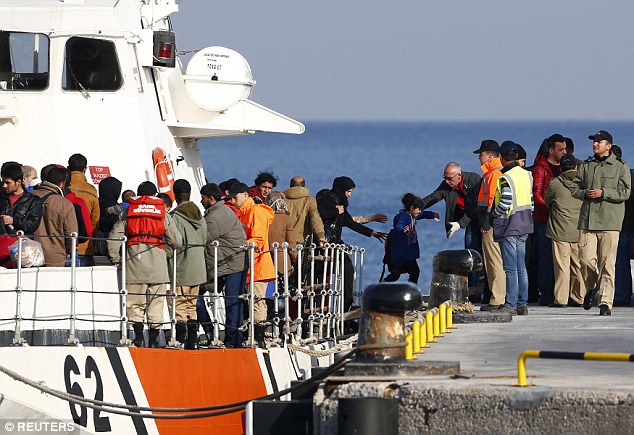
<svg viewBox="0 0 634 435"><path fill-rule="evenodd" d="M0 30L0 91L46 89L49 45L41 33Z"/></svg>

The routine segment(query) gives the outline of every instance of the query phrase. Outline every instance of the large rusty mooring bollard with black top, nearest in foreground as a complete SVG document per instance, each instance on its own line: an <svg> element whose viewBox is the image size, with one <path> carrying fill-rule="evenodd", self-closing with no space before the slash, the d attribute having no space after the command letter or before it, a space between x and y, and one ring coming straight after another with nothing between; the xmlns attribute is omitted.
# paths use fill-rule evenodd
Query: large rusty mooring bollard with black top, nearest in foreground
<svg viewBox="0 0 634 435"><path fill-rule="evenodd" d="M346 375L393 377L459 373L458 362L406 359L409 352L406 354L405 312L419 309L422 302L420 289L410 283L379 283L367 287L361 302L357 340L357 346L363 350L346 365ZM411 343L408 347L413 348L410 331L408 341Z"/></svg>

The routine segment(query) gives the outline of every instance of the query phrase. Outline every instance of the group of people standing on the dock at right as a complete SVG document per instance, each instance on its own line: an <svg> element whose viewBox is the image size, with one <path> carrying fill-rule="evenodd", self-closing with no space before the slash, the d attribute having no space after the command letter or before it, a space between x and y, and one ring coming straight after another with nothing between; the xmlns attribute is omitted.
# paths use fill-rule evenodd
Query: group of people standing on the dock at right
<svg viewBox="0 0 634 435"><path fill-rule="evenodd" d="M589 139L592 155L579 160L573 141L553 134L528 167L520 144L484 140L474 151L482 175L450 162L440 186L415 202L425 210L444 200L447 237L463 228L465 248L483 255L482 311L525 315L529 302L589 310L597 294L602 316L614 305L630 305L632 171L610 133L600 130ZM401 223L411 210L406 199L394 219L395 231L404 234L411 228ZM470 274L469 284L479 278Z"/></svg>

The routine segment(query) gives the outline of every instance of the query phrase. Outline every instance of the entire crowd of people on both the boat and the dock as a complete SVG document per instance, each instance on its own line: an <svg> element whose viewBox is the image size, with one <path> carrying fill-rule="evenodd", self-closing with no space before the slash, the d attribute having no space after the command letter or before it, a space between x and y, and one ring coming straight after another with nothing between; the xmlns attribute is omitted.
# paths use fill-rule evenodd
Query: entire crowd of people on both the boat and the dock
<svg viewBox="0 0 634 435"><path fill-rule="evenodd" d="M170 195L159 193L150 181L136 192L122 192L115 177L102 180L98 189L89 183L81 154L71 156L67 167L45 166L40 178L30 166L6 162L1 169L0 261L10 267L6 248L23 231L41 243L46 266L70 266L68 236L76 233L79 267L93 265L95 255L106 255L117 266L125 257L134 345L146 345L147 324L147 345L158 346L166 284L175 271L176 339L195 349L200 325L210 337L212 322L201 295L217 284L225 297L224 345L241 347L245 310L240 296L252 279L255 339L263 344L271 312L266 296L284 264L293 267L297 244L343 243L342 229L347 227L387 240L385 281L408 274L417 283L416 221L439 220L438 213L426 209L444 201L447 237L464 229L465 248L483 255L483 273L469 276L470 285L484 282L482 311L525 315L529 302L590 309L598 293L600 315L610 315L613 305L629 305L632 296L631 170L608 132L589 138L593 155L582 161L574 157L572 140L553 134L530 167L520 144L484 140L474 151L482 175L448 163L436 190L422 198L412 193L403 197L389 235L364 225L384 223L386 215L353 217L348 212L355 183L345 176L315 196L299 176L288 189L277 190L279 180L270 172L258 174L252 186L235 178L208 183L200 190L201 212L184 179L174 182ZM252 259L244 249L251 242L256 246ZM283 251L271 249L274 242L289 244L287 259ZM349 309L354 266L348 255L343 260L344 309Z"/></svg>

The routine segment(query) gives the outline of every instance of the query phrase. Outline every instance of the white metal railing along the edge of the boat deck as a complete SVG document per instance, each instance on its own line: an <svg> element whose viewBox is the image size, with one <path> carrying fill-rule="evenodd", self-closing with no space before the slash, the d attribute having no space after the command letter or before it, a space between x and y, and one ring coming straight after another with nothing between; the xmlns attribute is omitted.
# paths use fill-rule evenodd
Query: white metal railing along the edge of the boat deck
<svg viewBox="0 0 634 435"><path fill-rule="evenodd" d="M33 301L37 300L38 291L43 292L46 290L38 290L34 289L25 289L23 286L23 274L25 273L25 269L22 267L22 244L24 239L24 234L20 231L16 236L18 242L18 258L16 264L16 285L13 292L15 292L15 315L13 318L14 324L14 338L12 341L12 345L14 346L23 346L26 345L26 341L22 337L23 332L23 322L26 320L23 317L23 311L25 309L23 295L25 292L33 292L36 294L36 297L32 299ZM42 237L63 237L63 236L30 236L34 239L42 238ZM68 274L70 275L70 287L68 290L54 290L57 293L67 292L70 296L69 302L69 314L63 314L61 318L51 318L51 316L46 316L46 318L39 319L36 315L36 310L33 308L34 315L29 318L29 321L36 322L38 320L46 320L46 321L63 321L64 319L68 320L68 340L65 342L66 345L74 346L79 344L79 339L77 337L77 322L87 322L90 319L82 319L77 314L77 304L78 304L78 294L81 293L91 293L91 290L82 290L78 288L77 284L77 274L78 270L83 268L78 267L76 265L76 257L77 257L77 243L80 237L77 236L76 233L71 234L70 236L66 236L66 239L70 238L71 240L71 265L69 268L65 268L68 270ZM105 239L105 238L81 238L83 240L100 240L100 241L111 241L111 242L119 242L122 246L125 246L126 237L121 237L120 239ZM200 246L200 245L198 245ZM222 341L220 340L220 331L221 326L228 327L227 325L223 325L220 321L220 307L221 307L221 298L225 298L221 293L221 289L218 287L218 249L220 247L220 243L218 241L213 241L209 243L207 246L211 246L214 250L214 264L207 265L207 267L212 267L213 274L213 292L209 295L211 300L211 328L212 328L212 337L210 346L211 347L221 347ZM243 323L240 327L241 331L248 331L248 339L247 346L254 347L256 345L255 342L255 334L254 334L254 322L252 321L254 317L254 303L260 300L259 297L255 295L254 288L254 276L253 276L253 268L250 265L253 264L256 246L253 243L250 243L248 246L234 247L239 248L246 253L247 257L247 267L249 270L249 283L248 285L245 283L245 292L239 295L239 298L246 299L249 304L249 319ZM178 256L182 250L176 250L175 255ZM362 285L363 285L363 257L364 257L365 249L359 248L356 246L347 246L343 244L325 244L323 247L317 247L316 245L310 245L308 247L304 247L302 245L297 245L296 248L291 249L288 243L283 243L279 245L278 243L273 243L271 245L270 251L273 256L273 262L275 266L275 270L280 270L279 268L279 255L282 254L282 273L279 276L279 279L274 281L274 291L273 291L273 312L269 313L267 319L267 325L270 326L272 340L269 340L270 343L277 346L285 346L289 342L293 342L295 344L308 344L318 342L320 340L329 340L333 339L337 336L341 336L344 334L344 283L345 283L345 256L351 256L351 262L354 265L353 271L353 289L352 289L352 298L353 303L355 305L360 305L360 296L362 294ZM268 254L268 253L260 253L260 254ZM290 255L293 254L296 256L295 266L291 265ZM128 316L126 310L126 299L130 294L126 288L126 249L121 249L121 268L117 272L120 274L119 276L119 289L116 291L101 291L98 292L100 295L108 295L112 297L118 298L118 313L114 315L112 312L108 313L94 313L93 308L93 322L118 322L121 339L119 341L120 346L130 345L130 340L128 338L129 324L128 324ZM169 316L169 320L164 322L164 325L170 325L170 338L167 342L168 346L178 346L178 342L176 341L176 300L179 297L191 297L191 296L182 296L176 293L176 288L178 285L178 276L176 270L176 261L172 262L172 281L168 286L169 289L165 295L166 308ZM40 270L45 271L48 268L41 268ZM114 268L113 272L114 272ZM58 269L59 270L59 269ZM11 290L3 291L11 292ZM29 300L30 302L31 300ZM283 311L280 312L280 301L284 301ZM35 304L35 302L33 302ZM110 304L110 307L115 306ZM293 307L295 308L295 313L292 312ZM83 308L83 307L82 307ZM28 307L27 307L28 309ZM96 316L99 317L99 320L95 320ZM294 317L293 317L294 316ZM8 320L8 319L0 319L0 320ZM200 321L201 319L199 319ZM85 325L85 323L82 323ZM81 329L81 328L80 328ZM98 329L98 328L97 328Z"/></svg>

